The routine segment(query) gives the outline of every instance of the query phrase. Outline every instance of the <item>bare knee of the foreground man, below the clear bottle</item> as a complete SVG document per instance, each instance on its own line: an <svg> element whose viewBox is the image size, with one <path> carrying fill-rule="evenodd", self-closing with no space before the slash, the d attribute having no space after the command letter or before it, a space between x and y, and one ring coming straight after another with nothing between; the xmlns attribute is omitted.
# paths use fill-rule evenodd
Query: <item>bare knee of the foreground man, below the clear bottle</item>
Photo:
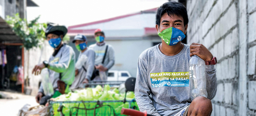
<svg viewBox="0 0 256 116"><path fill-rule="evenodd" d="M212 111L212 103L210 99L207 99L206 97L196 97L190 106L193 107L193 113L195 113L195 116L197 114L209 114ZM192 111L191 111L192 112Z"/></svg>

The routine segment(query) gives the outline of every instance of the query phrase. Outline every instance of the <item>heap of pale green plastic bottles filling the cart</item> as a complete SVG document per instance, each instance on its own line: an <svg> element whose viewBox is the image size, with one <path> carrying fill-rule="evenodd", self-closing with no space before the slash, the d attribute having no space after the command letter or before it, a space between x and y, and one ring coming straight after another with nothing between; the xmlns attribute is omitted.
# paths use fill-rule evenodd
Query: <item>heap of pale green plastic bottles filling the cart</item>
<svg viewBox="0 0 256 116"><path fill-rule="evenodd" d="M53 99L53 101L117 101L117 100L123 100L125 94L119 94L118 89L110 90L109 85L104 85L104 89L100 85L98 85L95 88L87 88L82 90L76 90L75 92L69 92L68 94L63 94L59 97L56 97ZM126 94L126 100L132 100L135 99L134 92L127 92ZM78 107L79 103L63 103L63 113L68 114L70 113L70 109L72 107ZM129 108L129 102L126 102L125 104L122 102L104 102L103 105L110 105L115 110L116 116L120 116L120 112L122 107ZM87 109L94 108L96 106L96 103L85 103L85 107ZM131 106L138 107L136 102L132 102ZM59 116L59 113L57 112L57 109L59 107L59 104L53 104L53 110L54 110L54 116ZM84 107L84 104L80 104L79 107ZM93 114L94 110L87 111L87 114ZM78 111L78 116L82 116L85 111L80 110L80 113ZM102 107L101 109L98 109L97 113L99 115L97 116L109 116L108 114L113 114L113 111L111 111L108 107ZM73 111L73 114L75 114L75 110ZM79 115L81 114L81 115ZM91 116L91 115L90 115ZM111 115L112 116L112 115Z"/></svg>

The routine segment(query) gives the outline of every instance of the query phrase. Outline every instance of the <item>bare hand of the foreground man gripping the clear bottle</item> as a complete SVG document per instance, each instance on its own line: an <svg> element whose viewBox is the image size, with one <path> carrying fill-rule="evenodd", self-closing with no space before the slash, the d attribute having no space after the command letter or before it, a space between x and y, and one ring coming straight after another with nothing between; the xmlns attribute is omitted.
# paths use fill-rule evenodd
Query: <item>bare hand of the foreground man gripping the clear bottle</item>
<svg viewBox="0 0 256 116"><path fill-rule="evenodd" d="M204 61L210 61L213 58L212 53L204 45L198 43L190 45L190 57L193 55L199 56Z"/></svg>

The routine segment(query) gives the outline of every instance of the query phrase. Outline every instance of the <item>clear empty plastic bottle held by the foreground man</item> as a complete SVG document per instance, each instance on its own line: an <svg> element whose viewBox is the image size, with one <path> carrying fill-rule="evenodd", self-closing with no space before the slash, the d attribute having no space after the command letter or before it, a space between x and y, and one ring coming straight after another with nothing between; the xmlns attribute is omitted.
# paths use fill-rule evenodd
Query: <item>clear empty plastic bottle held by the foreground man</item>
<svg viewBox="0 0 256 116"><path fill-rule="evenodd" d="M198 96L207 98L205 62L196 55L193 55L189 61L189 81L192 101Z"/></svg>

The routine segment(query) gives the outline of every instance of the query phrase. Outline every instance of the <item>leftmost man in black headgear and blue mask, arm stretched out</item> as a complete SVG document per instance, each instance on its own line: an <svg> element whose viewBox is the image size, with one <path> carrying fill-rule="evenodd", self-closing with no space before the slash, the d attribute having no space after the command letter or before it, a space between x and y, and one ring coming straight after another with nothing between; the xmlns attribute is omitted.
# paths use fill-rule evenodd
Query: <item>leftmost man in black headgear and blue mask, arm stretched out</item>
<svg viewBox="0 0 256 116"><path fill-rule="evenodd" d="M49 44L54 48L54 53L49 61L43 61L35 65L32 71L32 74L35 73L35 75L38 75L43 68L48 68L49 79L55 91L54 95L56 92L60 94L69 92L69 86L75 78L75 52L62 41L67 32L68 30L65 26L59 26L53 23L47 24L45 36ZM43 96L44 89L41 84L36 96L37 102Z"/></svg>

